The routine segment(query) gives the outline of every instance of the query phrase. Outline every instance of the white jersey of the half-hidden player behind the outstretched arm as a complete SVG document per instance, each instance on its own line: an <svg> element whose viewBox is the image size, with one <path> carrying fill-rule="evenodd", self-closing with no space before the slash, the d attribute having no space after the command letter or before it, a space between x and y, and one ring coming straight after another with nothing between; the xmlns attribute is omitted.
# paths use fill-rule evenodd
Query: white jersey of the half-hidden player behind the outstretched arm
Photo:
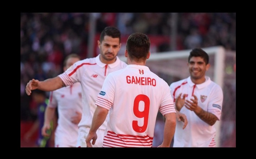
<svg viewBox="0 0 256 159"><path fill-rule="evenodd" d="M58 109L55 147L76 147L78 126L71 122L76 111L82 113L82 88L79 82L50 92L49 107Z"/></svg>

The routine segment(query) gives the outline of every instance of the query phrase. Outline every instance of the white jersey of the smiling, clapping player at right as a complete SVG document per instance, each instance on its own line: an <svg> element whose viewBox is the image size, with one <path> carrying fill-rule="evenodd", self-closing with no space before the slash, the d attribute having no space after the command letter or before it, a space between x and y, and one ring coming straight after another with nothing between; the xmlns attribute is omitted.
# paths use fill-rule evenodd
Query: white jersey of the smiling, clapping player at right
<svg viewBox="0 0 256 159"><path fill-rule="evenodd" d="M180 93L187 94L186 100L194 98L192 95L195 94L198 98L198 106L213 113L220 120L223 102L222 89L208 76L205 78L204 83L197 85L191 81L190 77L172 83L170 88L173 101L175 103ZM209 147L216 132L214 125L210 126L185 106L181 108L180 112L187 116L188 125L183 130L183 122L176 123L173 147Z"/></svg>

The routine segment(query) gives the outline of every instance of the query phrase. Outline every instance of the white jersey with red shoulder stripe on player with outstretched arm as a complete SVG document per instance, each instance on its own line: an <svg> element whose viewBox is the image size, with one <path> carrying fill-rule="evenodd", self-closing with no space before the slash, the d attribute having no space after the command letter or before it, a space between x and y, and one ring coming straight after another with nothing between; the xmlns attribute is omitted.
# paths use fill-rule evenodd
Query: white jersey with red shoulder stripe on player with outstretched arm
<svg viewBox="0 0 256 159"><path fill-rule="evenodd" d="M82 86L82 119L78 126L91 127L92 117L96 109L95 101L99 94L106 76L114 71L125 68L127 64L118 57L112 64L104 64L100 61L100 55L93 58L86 58L76 62L59 77L65 85L72 85L80 82ZM106 121L99 129L105 130Z"/></svg>

